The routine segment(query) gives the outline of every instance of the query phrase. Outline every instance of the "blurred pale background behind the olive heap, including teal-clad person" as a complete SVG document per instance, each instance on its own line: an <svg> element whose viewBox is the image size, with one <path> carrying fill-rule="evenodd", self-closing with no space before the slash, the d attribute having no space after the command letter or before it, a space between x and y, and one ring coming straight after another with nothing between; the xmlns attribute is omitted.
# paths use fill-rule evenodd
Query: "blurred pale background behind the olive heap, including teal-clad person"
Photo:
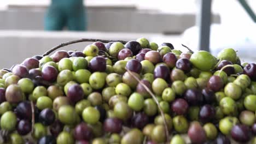
<svg viewBox="0 0 256 144"><path fill-rule="evenodd" d="M208 1L208 0L206 0ZM199 50L200 0L17 0L0 1L0 68L42 55L55 45L80 39L136 40L181 44ZM256 1L246 1L256 11ZM256 24L236 0L212 0L210 45L232 47L242 62L256 61ZM83 50L90 43L66 46Z"/></svg>

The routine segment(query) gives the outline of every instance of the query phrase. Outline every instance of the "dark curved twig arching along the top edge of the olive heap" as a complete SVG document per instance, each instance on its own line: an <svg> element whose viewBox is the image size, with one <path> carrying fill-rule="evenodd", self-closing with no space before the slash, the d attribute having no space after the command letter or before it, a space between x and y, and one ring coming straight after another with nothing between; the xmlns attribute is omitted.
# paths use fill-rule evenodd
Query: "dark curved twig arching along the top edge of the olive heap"
<svg viewBox="0 0 256 144"><path fill-rule="evenodd" d="M90 41L90 42L96 42L96 41L101 41L102 43L109 43L109 42L120 42L122 44L126 44L128 41L124 41L124 40L104 40L104 39L78 39L78 40L72 40L72 41L68 41L66 43L61 43L57 46L54 46L53 48L51 48L50 50L46 51L42 56L47 56L49 55L51 52L54 52L55 50L59 49L60 47L64 47L67 45L71 45L71 44L75 44L75 43L81 43L81 42L86 42L86 41Z"/></svg>

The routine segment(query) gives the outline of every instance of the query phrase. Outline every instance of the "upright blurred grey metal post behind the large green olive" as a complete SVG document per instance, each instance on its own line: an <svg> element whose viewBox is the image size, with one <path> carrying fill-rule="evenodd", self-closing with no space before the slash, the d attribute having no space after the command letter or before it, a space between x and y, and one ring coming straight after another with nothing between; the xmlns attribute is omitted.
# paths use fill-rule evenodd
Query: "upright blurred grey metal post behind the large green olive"
<svg viewBox="0 0 256 144"><path fill-rule="evenodd" d="M199 13L196 16L196 25L199 28L199 49L210 51L212 0L199 0Z"/></svg>

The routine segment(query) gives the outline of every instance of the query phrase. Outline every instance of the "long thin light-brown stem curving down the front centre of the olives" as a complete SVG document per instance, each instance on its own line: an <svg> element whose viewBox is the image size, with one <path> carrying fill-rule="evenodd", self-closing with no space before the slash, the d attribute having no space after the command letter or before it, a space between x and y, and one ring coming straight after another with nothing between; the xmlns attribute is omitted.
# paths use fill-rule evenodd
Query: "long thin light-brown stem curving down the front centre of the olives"
<svg viewBox="0 0 256 144"><path fill-rule="evenodd" d="M126 69L126 68L125 68ZM168 127L167 127L167 122L166 122L166 119L165 119L165 114L164 112L162 111L161 109L161 106L160 104L158 103L158 100L156 99L155 95L150 91L150 89L144 85L144 83L142 83L138 77L136 77L134 74L132 74L132 72L129 70L129 69L126 69L127 72L136 80L138 81L139 84L141 84L145 89L146 91L152 96L152 98L154 99L156 105L158 105L158 109L160 110L160 113L161 113L161 116L162 118L164 119L164 125L165 125L165 134L166 134L166 137L167 137L167 142L169 141L169 131L168 131Z"/></svg>

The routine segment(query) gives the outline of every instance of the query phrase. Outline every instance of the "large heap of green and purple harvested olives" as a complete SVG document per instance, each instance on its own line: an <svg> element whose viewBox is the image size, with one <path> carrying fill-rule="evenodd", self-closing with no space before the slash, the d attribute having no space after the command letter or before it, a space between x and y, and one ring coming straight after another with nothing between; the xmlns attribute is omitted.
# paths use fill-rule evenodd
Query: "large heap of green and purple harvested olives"
<svg viewBox="0 0 256 144"><path fill-rule="evenodd" d="M256 64L235 50L140 38L48 56L72 43L0 70L1 143L256 143Z"/></svg>

